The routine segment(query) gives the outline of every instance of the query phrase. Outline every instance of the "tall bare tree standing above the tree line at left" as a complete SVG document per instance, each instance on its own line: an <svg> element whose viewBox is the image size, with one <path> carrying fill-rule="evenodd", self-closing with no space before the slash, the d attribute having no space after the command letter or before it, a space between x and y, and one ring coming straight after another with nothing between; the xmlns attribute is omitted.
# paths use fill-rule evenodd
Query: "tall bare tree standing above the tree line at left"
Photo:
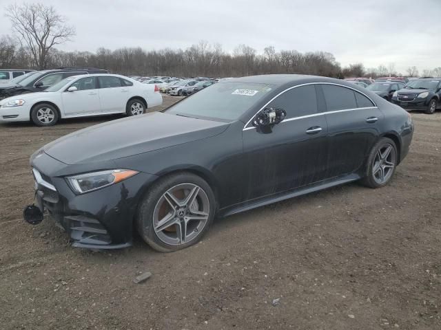
<svg viewBox="0 0 441 330"><path fill-rule="evenodd" d="M74 28L66 25L65 19L57 14L52 5L15 3L6 8L6 17L10 19L12 30L21 43L28 47L39 69L44 69L48 64L48 53L54 45L65 43L75 35Z"/></svg>

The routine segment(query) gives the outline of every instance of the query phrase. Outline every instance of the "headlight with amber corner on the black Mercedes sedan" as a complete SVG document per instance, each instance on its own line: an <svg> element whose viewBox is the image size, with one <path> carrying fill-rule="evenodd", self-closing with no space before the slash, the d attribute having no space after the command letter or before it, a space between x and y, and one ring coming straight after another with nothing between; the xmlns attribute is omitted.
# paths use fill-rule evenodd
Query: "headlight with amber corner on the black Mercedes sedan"
<svg viewBox="0 0 441 330"><path fill-rule="evenodd" d="M137 174L136 170L102 170L66 177L72 190L78 194L101 189Z"/></svg>

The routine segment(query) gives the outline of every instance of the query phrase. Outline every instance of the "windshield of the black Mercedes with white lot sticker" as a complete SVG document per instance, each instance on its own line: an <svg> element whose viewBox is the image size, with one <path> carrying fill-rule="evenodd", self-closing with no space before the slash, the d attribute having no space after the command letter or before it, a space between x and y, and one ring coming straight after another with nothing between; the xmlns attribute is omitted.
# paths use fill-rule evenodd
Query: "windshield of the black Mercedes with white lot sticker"
<svg viewBox="0 0 441 330"><path fill-rule="evenodd" d="M271 91L271 85L255 83L218 83L202 89L165 110L191 118L237 120Z"/></svg>

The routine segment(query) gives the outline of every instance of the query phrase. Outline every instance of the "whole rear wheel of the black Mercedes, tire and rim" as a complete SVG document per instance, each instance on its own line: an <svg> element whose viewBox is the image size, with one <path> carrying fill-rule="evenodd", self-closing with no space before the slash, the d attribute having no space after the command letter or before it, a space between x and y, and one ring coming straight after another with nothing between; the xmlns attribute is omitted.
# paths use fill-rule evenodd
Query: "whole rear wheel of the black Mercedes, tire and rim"
<svg viewBox="0 0 441 330"><path fill-rule="evenodd" d="M395 173L397 162L398 153L395 142L388 137L382 137L369 153L362 184L370 188L386 186Z"/></svg>

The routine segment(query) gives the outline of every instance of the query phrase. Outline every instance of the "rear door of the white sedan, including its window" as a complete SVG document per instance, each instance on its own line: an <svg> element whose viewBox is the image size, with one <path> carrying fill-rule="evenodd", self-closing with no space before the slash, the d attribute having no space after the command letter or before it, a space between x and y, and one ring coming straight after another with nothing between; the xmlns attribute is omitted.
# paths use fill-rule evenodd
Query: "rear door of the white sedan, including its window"
<svg viewBox="0 0 441 330"><path fill-rule="evenodd" d="M99 99L103 113L124 112L127 103L128 88L121 79L114 76L99 76Z"/></svg>

